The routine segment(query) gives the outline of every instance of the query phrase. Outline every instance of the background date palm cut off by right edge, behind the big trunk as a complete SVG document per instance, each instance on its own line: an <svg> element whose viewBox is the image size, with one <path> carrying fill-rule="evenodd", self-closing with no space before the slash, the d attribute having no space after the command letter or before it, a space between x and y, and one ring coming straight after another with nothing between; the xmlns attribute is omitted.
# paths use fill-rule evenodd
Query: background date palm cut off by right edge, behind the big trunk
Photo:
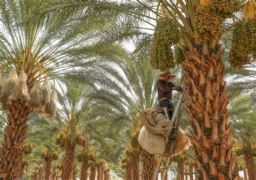
<svg viewBox="0 0 256 180"><path fill-rule="evenodd" d="M234 138L237 141L235 153L244 155L246 169L249 179L255 178L255 164L253 156L255 155L255 95L240 96L231 103L231 120L234 128Z"/></svg>

